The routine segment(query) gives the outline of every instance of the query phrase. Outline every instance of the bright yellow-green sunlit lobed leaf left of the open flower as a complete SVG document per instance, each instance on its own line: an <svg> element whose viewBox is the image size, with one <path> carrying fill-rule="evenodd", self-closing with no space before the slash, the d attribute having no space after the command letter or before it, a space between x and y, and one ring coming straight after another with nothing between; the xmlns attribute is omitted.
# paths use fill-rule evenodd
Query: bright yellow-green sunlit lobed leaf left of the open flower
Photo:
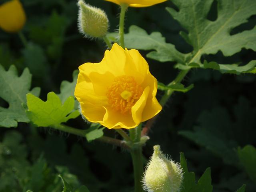
<svg viewBox="0 0 256 192"><path fill-rule="evenodd" d="M36 126L55 127L80 115L78 110L70 113L74 109L73 96L69 96L62 105L60 98L54 92L47 94L46 102L32 94L27 94L27 105L26 114Z"/></svg>

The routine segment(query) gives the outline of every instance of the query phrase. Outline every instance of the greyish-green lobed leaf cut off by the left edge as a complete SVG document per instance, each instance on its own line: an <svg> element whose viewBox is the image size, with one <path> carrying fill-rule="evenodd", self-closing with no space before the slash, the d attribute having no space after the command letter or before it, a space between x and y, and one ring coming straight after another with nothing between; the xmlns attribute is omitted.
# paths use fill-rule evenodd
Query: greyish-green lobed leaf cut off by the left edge
<svg viewBox="0 0 256 192"><path fill-rule="evenodd" d="M0 127L17 127L18 122L30 122L22 103L26 103L26 94L29 92L36 96L40 94L38 87L30 91L31 78L28 68L18 77L14 65L8 71L0 65L0 97L9 103L8 108L0 106Z"/></svg>

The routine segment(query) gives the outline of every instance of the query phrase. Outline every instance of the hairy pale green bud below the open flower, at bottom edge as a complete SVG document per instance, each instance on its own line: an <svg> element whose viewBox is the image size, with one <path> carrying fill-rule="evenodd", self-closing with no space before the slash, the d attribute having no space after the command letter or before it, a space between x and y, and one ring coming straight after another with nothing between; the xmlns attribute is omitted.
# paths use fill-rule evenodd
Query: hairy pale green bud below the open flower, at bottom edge
<svg viewBox="0 0 256 192"><path fill-rule="evenodd" d="M178 192L183 179L180 164L174 163L160 151L160 145L154 146L153 156L146 167L143 177L143 189L148 192Z"/></svg>

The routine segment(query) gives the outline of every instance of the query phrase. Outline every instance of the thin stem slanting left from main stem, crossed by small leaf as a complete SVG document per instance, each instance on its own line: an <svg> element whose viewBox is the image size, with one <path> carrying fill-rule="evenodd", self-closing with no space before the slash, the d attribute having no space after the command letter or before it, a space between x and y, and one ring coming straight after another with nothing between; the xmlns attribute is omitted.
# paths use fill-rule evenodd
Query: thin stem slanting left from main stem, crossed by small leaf
<svg viewBox="0 0 256 192"><path fill-rule="evenodd" d="M70 126L66 126L66 125L62 125L62 124L58 124L57 126L52 126L52 128L54 129L58 129L64 132L68 132L74 135L78 135L78 136L82 136L86 138L86 134L88 133L86 130L80 130L80 129L76 129ZM126 148L126 149L130 149L130 146L128 146L125 142L123 142L122 140L118 140L118 139L113 139L110 137L106 137L106 136L102 136L98 139L96 139L97 141L100 142L104 142L104 143L108 143L108 144L113 144L122 148Z"/></svg>

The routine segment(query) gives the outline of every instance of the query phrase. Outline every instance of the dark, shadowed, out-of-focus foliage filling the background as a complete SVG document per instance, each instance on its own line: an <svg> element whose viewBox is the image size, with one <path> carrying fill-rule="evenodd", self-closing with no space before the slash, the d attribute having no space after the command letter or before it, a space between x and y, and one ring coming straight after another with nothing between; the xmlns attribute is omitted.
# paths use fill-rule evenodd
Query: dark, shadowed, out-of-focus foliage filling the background
<svg viewBox="0 0 256 192"><path fill-rule="evenodd" d="M33 75L32 88L41 87L40 98L45 101L48 92L60 92L63 80L73 81L72 72L78 66L100 62L106 46L102 40L90 41L78 33L76 0L21 2L27 14L23 32L29 41L28 48L24 48L17 34L0 31L0 63L6 70L14 64L19 74L28 67ZM110 20L109 31L116 31L118 5L103 0L86 2L104 9ZM179 35L184 29L168 14L166 6L177 9L171 1L147 8L128 8L125 31L128 32L131 25L140 26L149 34L159 31L178 51L191 52L192 46ZM216 9L215 0L209 20L216 20ZM255 25L256 15L253 15L248 23L234 28L231 34L250 30ZM148 52L140 53L146 58ZM256 52L242 49L230 57L218 52L202 56L202 62L204 59L222 64L247 64L256 60ZM175 63L146 60L159 82L168 84L178 74L179 70L173 68ZM183 81L186 86L191 83L194 83L192 90L172 96L149 133L150 140L143 151L145 164L153 146L160 144L164 153L175 161L180 161L179 153L184 152L188 170L195 172L196 180L211 167L213 191L233 192L242 184L247 185L246 191L255 191L255 183L239 164L236 152L238 146L256 146L255 74L236 76L212 69L194 69ZM161 91L157 96L161 98ZM0 98L0 106L8 108L8 103ZM89 126L81 117L67 124L81 129ZM188 132L193 130L198 134ZM114 130L105 129L104 134L119 138ZM74 186L86 185L91 192L132 190L132 161L130 154L121 148L96 141L88 143L84 138L25 123L19 123L17 128L0 128L0 142L0 192L21 191L20 183L23 186L33 183L33 172L41 176L34 181L34 186L42 185L45 186L42 191L50 191L51 184L60 182L56 175L64 170L68 175L65 180L70 178ZM9 152L6 147L10 148ZM39 162L43 162L41 166ZM62 191L62 187L56 187L56 191Z"/></svg>

